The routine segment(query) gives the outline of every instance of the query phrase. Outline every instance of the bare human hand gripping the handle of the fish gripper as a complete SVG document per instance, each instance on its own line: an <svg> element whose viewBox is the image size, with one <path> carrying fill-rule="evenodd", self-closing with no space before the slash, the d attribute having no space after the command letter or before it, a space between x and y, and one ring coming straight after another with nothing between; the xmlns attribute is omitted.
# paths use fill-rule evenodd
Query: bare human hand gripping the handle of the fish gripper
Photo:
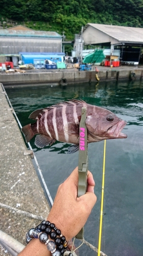
<svg viewBox="0 0 143 256"><path fill-rule="evenodd" d="M78 168L76 167L58 188L47 220L61 229L67 241L76 236L87 222L97 200L94 194L94 186L93 175L88 171L87 193L77 197Z"/></svg>

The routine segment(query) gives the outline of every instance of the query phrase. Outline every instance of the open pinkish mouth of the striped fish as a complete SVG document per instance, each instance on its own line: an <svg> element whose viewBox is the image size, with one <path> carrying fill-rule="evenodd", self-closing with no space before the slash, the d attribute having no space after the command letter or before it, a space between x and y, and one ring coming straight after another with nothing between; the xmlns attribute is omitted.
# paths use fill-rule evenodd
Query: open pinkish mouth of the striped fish
<svg viewBox="0 0 143 256"><path fill-rule="evenodd" d="M110 138L112 139L125 139L127 138L127 135L124 133L121 133L123 128L126 126L127 122L124 120L119 121L117 124L111 126L107 132Z"/></svg>

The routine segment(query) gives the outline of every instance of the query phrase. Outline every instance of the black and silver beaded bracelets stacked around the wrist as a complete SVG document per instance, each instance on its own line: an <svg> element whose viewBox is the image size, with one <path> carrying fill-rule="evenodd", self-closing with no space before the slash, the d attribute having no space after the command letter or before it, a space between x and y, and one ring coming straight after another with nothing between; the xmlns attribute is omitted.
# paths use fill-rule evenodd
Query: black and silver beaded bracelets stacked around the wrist
<svg viewBox="0 0 143 256"><path fill-rule="evenodd" d="M53 231L52 231L53 230ZM54 240L49 240L49 237ZM68 242L61 233L61 230L49 221L42 221L36 228L31 228L26 233L26 243L33 238L39 238L40 242L47 246L52 256L63 256L68 248Z"/></svg>

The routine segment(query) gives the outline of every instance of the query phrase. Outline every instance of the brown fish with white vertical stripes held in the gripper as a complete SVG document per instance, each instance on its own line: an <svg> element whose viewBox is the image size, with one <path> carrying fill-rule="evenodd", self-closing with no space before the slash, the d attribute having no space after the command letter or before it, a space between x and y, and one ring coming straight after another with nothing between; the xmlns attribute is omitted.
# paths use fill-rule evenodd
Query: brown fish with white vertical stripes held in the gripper
<svg viewBox="0 0 143 256"><path fill-rule="evenodd" d="M37 147L42 148L52 145L55 141L61 141L72 144L68 148L68 154L78 151L82 107L87 108L85 125L88 143L127 138L127 135L121 132L127 124L126 121L100 106L71 99L32 112L29 118L36 122L29 123L21 129L26 142L37 135Z"/></svg>

